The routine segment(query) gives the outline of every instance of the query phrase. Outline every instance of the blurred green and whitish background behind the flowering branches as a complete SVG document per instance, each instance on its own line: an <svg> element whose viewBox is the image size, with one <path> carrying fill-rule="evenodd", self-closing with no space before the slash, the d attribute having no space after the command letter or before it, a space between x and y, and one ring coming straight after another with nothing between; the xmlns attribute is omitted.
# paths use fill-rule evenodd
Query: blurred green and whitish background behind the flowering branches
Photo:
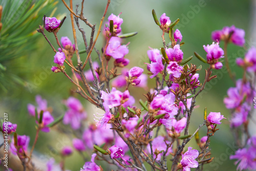
<svg viewBox="0 0 256 171"><path fill-rule="evenodd" d="M7 1L0 2L1 4L5 4ZM69 4L68 1L66 2ZM75 6L75 4L80 4L80 2L81 1L73 1L73 4ZM84 3L84 15L89 19L90 23L97 24L97 30L106 1L96 0L85 1ZM58 32L58 37L60 38L61 36L68 36L73 42L69 11L61 1L58 2L56 7L57 9L54 16L57 16L58 19L62 19L63 16L67 16L65 23ZM46 16L50 16L53 9L54 7L51 7L48 10L45 9L44 13L40 12L41 16L38 16L39 19L36 19L36 22L31 23L30 27L33 28L33 31L35 31L38 25L42 25L42 20L40 18L42 18L44 14L46 14ZM107 19L111 13L118 15L122 12L120 15L124 21L122 24L122 32L138 32L136 36L127 38L123 42L123 44L131 42L129 45L130 52L126 55L126 57L130 59L128 68L138 66L146 69L144 62L148 61L146 55L148 46L152 48L162 47L162 32L153 20L152 9L155 9L158 18L162 15L162 13L166 13L166 15L169 16L170 20L172 21L180 18L180 23L177 25L177 27L182 33L182 41L185 42L185 45L181 47L184 53L184 58L193 55L194 51L197 51L199 54L201 54L201 56L205 57L206 52L203 50L203 45L211 44L211 32L214 30L220 30L224 26L234 25L238 28L244 29L246 32L246 42L248 43L246 44L246 48L252 46L253 41L255 41L251 39L250 34L254 24L252 12L255 10L253 8L252 1L112 0L105 19ZM2 23L3 22L4 21L2 20ZM90 29L83 25L82 22L80 22L80 24L89 35ZM25 29L23 32L26 31L26 25L20 27ZM15 31L17 32L18 30ZM2 32L0 33L2 34ZM53 34L48 32L46 34L54 47L57 48ZM83 41L78 30L77 37L79 50L83 50ZM4 46L2 40L3 35L0 37L0 47ZM33 41L33 45L31 45L30 41ZM102 45L103 38L100 34L96 48L100 50ZM222 43L220 45L223 47ZM30 145L32 145L32 140L35 137L36 130L34 129L34 119L28 115L27 104L35 104L35 95L40 94L42 98L48 100L48 106L51 106L53 109L52 114L54 117L57 117L65 112L65 106L62 104L62 100L67 99L71 95L70 89L74 87L63 74L55 74L50 71L50 68L53 65L53 56L55 54L41 34L35 33L32 40L29 39L29 41L25 41L19 46L20 47L18 48L21 48L21 51L20 53L15 54L15 58L12 58L11 60L1 60L2 65L6 67L6 70L1 74L13 74L22 78L24 82L17 83L20 81L8 79L9 76L1 77L0 82L6 83L4 84L4 88L1 88L0 92L2 97L0 103L0 116L3 116L4 112L8 113L9 120L12 123L18 124L17 133L19 135L29 135L31 137ZM33 46L33 48L31 48L31 46ZM236 57L243 57L244 53L246 52L246 48L244 49L243 47L237 47L231 44L228 46L228 56L230 58L231 69L236 72L237 79L242 76L242 70L236 67L234 59ZM2 50L0 52L0 59L5 58L6 54L7 52ZM84 61L85 58L85 54L81 55L82 61ZM96 58L95 53L93 53L93 58ZM73 61L75 62L76 60L74 59ZM206 69L208 66L196 58L192 59L191 62L195 63L197 66L202 65L203 69L200 72L199 79L201 82L203 82L205 76L204 69ZM231 79L228 77L225 70L216 70L214 71L214 74L217 74L218 78L212 80L206 86L206 90L202 93L202 95L197 98L198 108L193 113L191 122L193 125L191 125L191 133L194 132L198 125L203 122L203 110L205 107L207 107L208 113L221 112L224 117L229 118L229 111L223 104L223 98L226 96L227 89L229 87L233 87L234 84L231 82ZM155 79L151 79L148 81L148 88L153 88L155 86L154 80ZM147 91L148 90L144 90L142 88L131 88L131 94L134 95L136 99L144 99L142 92L145 94ZM79 96L75 96L81 99ZM81 101L84 106L86 106L86 109L88 109L88 114L93 117L92 111L94 108L85 100L81 99ZM227 120L225 120L221 125L218 125L218 127L220 130L215 134L214 137L211 137L210 144L210 147L212 148L212 157L215 157L216 160L211 164L205 165L205 170L235 170L236 166L233 165L234 161L230 161L228 157L229 153L234 153L234 148L230 147L232 146L230 144L233 143L233 137L230 133L229 123ZM203 129L200 131L200 137L204 136L205 132L205 127L203 127ZM56 140L57 135L58 133L56 131L52 131L48 134L39 134L39 140L35 148L35 151L38 152L38 156L41 154L49 154L48 144L53 144L53 146L56 145L56 143L59 141ZM194 139L191 141L194 143ZM56 155L52 156L56 157ZM56 157L56 159L59 161L58 157ZM83 160L76 155L76 160L67 160L67 169L78 170L83 164ZM102 165L104 166L106 164L102 163Z"/></svg>

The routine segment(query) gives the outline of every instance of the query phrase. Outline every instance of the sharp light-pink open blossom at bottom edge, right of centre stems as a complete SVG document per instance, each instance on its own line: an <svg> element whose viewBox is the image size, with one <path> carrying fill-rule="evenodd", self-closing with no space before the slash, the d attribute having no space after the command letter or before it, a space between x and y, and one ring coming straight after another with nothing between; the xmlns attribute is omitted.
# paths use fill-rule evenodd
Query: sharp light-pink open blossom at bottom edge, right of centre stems
<svg viewBox="0 0 256 171"><path fill-rule="evenodd" d="M183 170L189 171L190 168L198 167L198 162L195 160L199 156L197 149L192 149L192 147L187 148L187 152L182 154L182 159L180 161Z"/></svg>

